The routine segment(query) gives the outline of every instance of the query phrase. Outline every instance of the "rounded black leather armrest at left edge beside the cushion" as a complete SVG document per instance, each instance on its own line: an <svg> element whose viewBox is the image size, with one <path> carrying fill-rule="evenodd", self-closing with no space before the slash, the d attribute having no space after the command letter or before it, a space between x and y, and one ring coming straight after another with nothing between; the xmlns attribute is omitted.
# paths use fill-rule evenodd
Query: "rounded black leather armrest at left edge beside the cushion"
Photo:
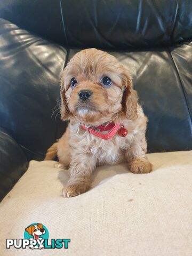
<svg viewBox="0 0 192 256"><path fill-rule="evenodd" d="M0 200L27 170L28 160L18 143L0 127Z"/></svg>

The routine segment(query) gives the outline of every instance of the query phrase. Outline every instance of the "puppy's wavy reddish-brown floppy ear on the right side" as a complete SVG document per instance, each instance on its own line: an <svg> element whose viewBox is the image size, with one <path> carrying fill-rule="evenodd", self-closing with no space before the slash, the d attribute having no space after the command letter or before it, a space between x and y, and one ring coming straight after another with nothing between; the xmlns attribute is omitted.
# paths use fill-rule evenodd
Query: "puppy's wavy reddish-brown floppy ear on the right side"
<svg viewBox="0 0 192 256"><path fill-rule="evenodd" d="M134 120L137 118L138 95L133 90L130 75L125 71L123 75L124 92L122 97L122 111L127 119Z"/></svg>

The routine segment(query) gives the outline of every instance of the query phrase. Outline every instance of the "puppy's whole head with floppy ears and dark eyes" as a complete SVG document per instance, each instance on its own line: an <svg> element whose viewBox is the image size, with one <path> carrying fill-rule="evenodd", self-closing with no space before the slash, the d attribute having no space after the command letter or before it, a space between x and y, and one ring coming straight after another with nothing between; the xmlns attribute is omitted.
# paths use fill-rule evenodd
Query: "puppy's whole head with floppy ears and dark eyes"
<svg viewBox="0 0 192 256"><path fill-rule="evenodd" d="M92 125L114 121L122 114L134 118L137 95L133 94L131 78L115 57L96 49L83 50L63 71L61 118Z"/></svg>

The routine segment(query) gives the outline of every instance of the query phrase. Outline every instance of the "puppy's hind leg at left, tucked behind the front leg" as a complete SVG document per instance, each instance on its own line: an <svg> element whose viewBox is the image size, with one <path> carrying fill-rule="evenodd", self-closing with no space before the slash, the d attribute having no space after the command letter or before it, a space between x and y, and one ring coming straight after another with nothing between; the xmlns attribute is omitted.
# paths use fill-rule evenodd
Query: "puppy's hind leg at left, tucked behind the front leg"
<svg viewBox="0 0 192 256"><path fill-rule="evenodd" d="M70 146L69 146L69 129L67 127L66 132L58 141L57 154L59 163L55 164L55 167L68 169L70 164Z"/></svg>

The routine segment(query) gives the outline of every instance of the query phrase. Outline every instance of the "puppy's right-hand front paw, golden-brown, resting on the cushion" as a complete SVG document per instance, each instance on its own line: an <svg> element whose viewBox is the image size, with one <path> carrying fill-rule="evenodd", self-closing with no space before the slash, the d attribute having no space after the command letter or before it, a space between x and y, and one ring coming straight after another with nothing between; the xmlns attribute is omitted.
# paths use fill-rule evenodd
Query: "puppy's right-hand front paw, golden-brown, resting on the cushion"
<svg viewBox="0 0 192 256"><path fill-rule="evenodd" d="M145 158L138 157L128 163L128 167L132 173L149 173L152 171L153 165Z"/></svg>

